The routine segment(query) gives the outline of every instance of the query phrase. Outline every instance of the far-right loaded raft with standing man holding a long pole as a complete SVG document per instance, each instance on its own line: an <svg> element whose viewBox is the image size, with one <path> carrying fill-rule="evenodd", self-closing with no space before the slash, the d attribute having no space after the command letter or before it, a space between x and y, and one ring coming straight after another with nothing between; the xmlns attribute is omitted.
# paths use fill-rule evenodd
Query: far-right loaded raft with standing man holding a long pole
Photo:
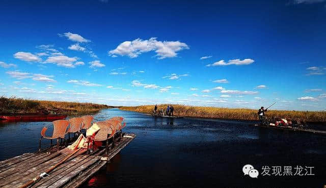
<svg viewBox="0 0 326 188"><path fill-rule="evenodd" d="M300 118L280 118L280 117L272 117L270 119L267 119L265 116L265 112L267 112L267 109L264 109L264 107L260 107L258 110L258 117L260 120L260 123L263 126L282 126L282 127L291 127L291 128L302 128L306 129L308 128L307 123Z"/></svg>

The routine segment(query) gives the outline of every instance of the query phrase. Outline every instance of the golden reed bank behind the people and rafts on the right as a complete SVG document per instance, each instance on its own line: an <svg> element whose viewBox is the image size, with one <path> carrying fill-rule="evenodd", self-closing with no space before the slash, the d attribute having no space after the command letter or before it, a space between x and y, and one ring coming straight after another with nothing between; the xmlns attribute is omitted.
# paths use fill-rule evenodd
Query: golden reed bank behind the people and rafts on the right
<svg viewBox="0 0 326 188"><path fill-rule="evenodd" d="M168 104L158 105L157 109L166 109ZM218 107L199 107L173 105L174 115L187 117L203 117L203 118L224 118L224 119L243 119L243 120L258 120L257 110L252 109L232 109ZM122 110L135 112L152 113L154 105L144 105L135 107L120 107ZM314 111L286 111L286 110L268 110L267 117L287 117L287 118L302 118L311 122L326 122L326 112Z"/></svg>

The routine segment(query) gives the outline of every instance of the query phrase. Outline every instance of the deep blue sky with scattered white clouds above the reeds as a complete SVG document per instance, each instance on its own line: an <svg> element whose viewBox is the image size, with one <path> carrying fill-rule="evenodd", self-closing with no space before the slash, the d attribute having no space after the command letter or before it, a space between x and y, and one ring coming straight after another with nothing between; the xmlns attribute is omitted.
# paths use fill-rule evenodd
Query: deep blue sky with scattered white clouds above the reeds
<svg viewBox="0 0 326 188"><path fill-rule="evenodd" d="M0 95L325 110L326 1L2 1Z"/></svg>

